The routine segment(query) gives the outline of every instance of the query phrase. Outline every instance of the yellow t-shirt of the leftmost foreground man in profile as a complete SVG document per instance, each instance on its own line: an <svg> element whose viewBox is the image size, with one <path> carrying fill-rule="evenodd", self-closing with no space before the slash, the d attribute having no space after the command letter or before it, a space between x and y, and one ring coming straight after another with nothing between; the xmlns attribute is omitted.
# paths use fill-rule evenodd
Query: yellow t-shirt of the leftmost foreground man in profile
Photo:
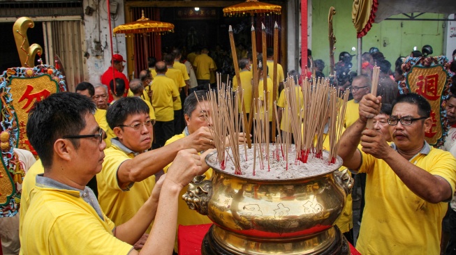
<svg viewBox="0 0 456 255"><path fill-rule="evenodd" d="M34 190L22 224L23 254L128 254L133 249L115 238L115 224L103 212L101 218L79 191L38 184Z"/></svg>

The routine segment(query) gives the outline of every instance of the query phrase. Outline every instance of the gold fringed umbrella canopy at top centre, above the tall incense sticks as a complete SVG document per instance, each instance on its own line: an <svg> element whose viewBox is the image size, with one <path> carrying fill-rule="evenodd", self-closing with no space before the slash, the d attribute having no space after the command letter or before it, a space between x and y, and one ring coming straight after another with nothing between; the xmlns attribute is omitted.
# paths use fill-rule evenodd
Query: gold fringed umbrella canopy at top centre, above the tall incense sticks
<svg viewBox="0 0 456 255"><path fill-rule="evenodd" d="M272 3L262 3L258 0L247 0L234 6L223 8L223 15L254 15L260 13L280 14L282 7Z"/></svg>

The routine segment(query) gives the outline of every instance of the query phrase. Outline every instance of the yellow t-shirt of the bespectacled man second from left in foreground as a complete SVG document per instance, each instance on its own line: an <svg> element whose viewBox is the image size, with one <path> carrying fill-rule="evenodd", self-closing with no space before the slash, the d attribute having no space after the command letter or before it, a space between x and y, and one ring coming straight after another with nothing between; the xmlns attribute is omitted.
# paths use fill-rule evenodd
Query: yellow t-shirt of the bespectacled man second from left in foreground
<svg viewBox="0 0 456 255"><path fill-rule="evenodd" d="M131 151L124 151L124 147L117 140L112 140L112 146L105 149L103 169L96 175L98 185L98 201L103 212L116 225L127 222L140 207L149 199L155 185L155 176L150 176L139 183L132 183L129 190L122 190L117 182L117 170L126 160L135 155ZM128 148L124 149L128 150ZM152 225L152 224L151 224ZM149 233L151 227L147 229Z"/></svg>

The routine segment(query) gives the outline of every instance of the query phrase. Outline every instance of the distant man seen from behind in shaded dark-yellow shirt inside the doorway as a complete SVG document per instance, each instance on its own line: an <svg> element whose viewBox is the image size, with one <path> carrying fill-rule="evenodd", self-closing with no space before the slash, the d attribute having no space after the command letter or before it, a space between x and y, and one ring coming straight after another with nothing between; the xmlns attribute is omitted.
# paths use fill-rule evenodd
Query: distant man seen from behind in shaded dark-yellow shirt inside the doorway
<svg viewBox="0 0 456 255"><path fill-rule="evenodd" d="M208 56L208 53L209 50L207 48L203 48L201 50L201 54L196 56L195 61L193 61L193 69L195 69L198 89L207 90L209 88L211 72L217 69L214 59Z"/></svg>

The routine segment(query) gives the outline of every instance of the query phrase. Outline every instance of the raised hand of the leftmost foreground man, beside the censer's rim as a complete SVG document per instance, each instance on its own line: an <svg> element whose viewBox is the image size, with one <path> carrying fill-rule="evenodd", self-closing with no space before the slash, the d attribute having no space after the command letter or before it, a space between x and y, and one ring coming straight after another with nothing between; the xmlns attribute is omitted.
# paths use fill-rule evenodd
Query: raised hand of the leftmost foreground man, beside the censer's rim
<svg viewBox="0 0 456 255"><path fill-rule="evenodd" d="M166 178L160 179L170 180L182 190L185 185L193 180L193 177L204 173L200 160L201 157L195 149L180 150L172 161Z"/></svg>

